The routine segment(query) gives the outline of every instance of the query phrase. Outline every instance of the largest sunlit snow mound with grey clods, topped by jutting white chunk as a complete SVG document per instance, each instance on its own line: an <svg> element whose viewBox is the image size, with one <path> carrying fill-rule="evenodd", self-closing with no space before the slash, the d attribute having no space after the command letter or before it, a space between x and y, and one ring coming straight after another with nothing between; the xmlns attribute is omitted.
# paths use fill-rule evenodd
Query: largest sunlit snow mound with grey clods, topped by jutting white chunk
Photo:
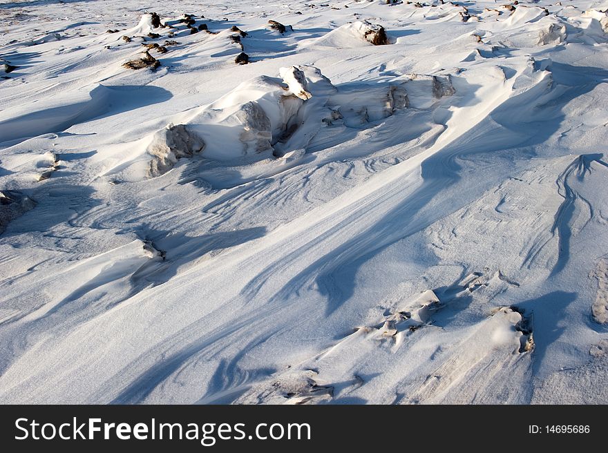
<svg viewBox="0 0 608 453"><path fill-rule="evenodd" d="M219 161L272 157L274 146L287 142L305 123L298 113L314 95L309 86L314 69L292 66L280 73L285 80L255 77L216 102L178 115L153 135L147 150L154 156L148 175L165 173L181 157L203 149L205 157Z"/></svg>

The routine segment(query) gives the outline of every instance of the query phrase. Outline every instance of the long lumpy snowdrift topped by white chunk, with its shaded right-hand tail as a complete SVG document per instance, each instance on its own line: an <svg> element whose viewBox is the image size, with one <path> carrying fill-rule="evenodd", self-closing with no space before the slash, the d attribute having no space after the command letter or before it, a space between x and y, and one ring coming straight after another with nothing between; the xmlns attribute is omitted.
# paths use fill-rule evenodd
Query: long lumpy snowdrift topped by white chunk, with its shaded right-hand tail
<svg viewBox="0 0 608 453"><path fill-rule="evenodd" d="M450 76L409 75L383 86L334 86L313 66L279 70L281 78L243 82L216 102L178 116L155 133L148 174L165 173L180 157L262 160L305 150L322 127L363 128L410 106L430 108L455 93Z"/></svg>

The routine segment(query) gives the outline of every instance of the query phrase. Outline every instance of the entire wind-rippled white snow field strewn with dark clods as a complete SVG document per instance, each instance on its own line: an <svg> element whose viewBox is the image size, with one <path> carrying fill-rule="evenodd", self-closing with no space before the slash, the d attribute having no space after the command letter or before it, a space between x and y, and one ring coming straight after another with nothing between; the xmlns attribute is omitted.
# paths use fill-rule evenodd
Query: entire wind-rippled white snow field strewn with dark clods
<svg viewBox="0 0 608 453"><path fill-rule="evenodd" d="M1 403L608 403L608 1L324 1L0 2Z"/></svg>

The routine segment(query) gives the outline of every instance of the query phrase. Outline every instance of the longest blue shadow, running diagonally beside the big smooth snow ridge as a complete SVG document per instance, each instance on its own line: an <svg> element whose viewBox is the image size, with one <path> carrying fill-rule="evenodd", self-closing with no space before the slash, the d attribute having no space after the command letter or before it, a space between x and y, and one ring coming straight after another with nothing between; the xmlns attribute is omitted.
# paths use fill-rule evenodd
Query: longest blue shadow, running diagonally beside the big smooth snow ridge
<svg viewBox="0 0 608 453"><path fill-rule="evenodd" d="M460 176L461 162L475 160L489 153L495 158L506 156L506 159L514 160L517 154L513 154L513 149L526 148L535 152L535 145L547 141L558 131L565 117L563 108L572 99L608 81L608 71L600 68L553 62L550 70L553 77L550 87L539 84L507 99L488 115L496 124L495 130L488 130L488 122L482 122L466 135L428 157L421 164L423 182L417 189L379 218L372 227L339 244L292 277L276 293L275 299L289 300L305 287L307 282L316 280L319 291L327 297L326 314L332 314L352 296L355 276L365 262L395 242L408 238L440 218L477 200L488 187L496 186L512 176L505 174L504 160L497 159L493 166L487 166L483 172L477 173L475 181L471 182L470 178L465 181ZM564 86L564 90L554 91L555 85ZM470 87L469 91L474 93L475 87ZM551 97L551 93L556 94ZM547 97L547 101L539 104L542 97ZM513 112L520 115L513 115ZM488 141L487 137L493 139ZM506 145L502 138L507 139ZM479 143L483 146L479 146ZM529 160L531 155L522 151L519 157ZM515 171L517 167L513 165L511 168ZM404 189L407 182L408 178L403 178ZM446 193L449 193L446 189L457 194L457 199L446 197ZM319 238L322 239L323 236ZM265 269L254 280L265 281L267 273L272 273L272 269ZM256 282L252 281L244 293L254 296L256 291L252 288L255 285Z"/></svg>

